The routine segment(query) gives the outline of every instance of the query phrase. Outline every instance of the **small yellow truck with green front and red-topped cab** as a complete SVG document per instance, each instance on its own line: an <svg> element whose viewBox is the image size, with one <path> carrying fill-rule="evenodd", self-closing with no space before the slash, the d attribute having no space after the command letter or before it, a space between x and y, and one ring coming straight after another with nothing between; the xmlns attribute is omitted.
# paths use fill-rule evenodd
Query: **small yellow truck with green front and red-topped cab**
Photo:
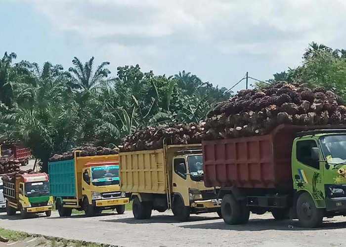
<svg viewBox="0 0 346 247"><path fill-rule="evenodd" d="M3 194L7 215L20 211L23 218L31 213L45 213L50 216L53 198L49 195L49 181L46 173L17 174L10 180L3 177Z"/></svg>

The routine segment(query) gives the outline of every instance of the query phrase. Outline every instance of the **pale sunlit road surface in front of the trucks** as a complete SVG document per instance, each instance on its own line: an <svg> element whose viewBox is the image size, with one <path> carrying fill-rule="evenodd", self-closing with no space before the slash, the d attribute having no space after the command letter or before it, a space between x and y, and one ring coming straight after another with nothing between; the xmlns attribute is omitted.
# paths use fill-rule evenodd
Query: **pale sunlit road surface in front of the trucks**
<svg viewBox="0 0 346 247"><path fill-rule="evenodd" d="M292 225L292 226L290 226ZM297 222L276 222L270 214L251 215L247 225L229 226L216 213L192 216L177 223L170 212L154 213L149 220L134 220L132 213L116 213L87 218L75 215L59 218L20 219L0 214L0 227L68 239L119 246L342 246L346 218L328 219L320 229L306 230Z"/></svg>

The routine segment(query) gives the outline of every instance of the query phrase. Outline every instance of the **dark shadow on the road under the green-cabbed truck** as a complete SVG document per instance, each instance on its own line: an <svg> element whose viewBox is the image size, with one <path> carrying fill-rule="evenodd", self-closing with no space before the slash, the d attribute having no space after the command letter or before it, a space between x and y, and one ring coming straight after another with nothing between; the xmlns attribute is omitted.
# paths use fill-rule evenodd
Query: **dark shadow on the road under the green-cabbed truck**
<svg viewBox="0 0 346 247"><path fill-rule="evenodd" d="M299 226L298 221L284 220L276 221L274 219L250 219L245 225L226 225L223 221L203 224L181 225L181 228L189 229L219 229L232 231L319 231L326 229L346 228L346 222L335 222L333 220L325 221L321 227L306 229Z"/></svg>

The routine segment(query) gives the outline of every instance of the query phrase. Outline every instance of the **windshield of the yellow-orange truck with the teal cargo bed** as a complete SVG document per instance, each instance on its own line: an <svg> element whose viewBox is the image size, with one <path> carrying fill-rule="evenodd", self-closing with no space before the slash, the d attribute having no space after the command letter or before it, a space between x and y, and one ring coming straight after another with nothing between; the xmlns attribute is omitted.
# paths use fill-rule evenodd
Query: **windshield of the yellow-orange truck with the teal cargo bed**
<svg viewBox="0 0 346 247"><path fill-rule="evenodd" d="M91 179L94 186L119 184L119 165L91 167Z"/></svg>

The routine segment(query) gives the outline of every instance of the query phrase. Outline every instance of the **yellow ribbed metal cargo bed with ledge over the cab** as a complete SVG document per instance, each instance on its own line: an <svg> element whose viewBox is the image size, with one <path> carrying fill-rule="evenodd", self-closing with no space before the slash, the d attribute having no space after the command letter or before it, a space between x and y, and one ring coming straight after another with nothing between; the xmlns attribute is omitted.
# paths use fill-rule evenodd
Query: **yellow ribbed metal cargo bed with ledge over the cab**
<svg viewBox="0 0 346 247"><path fill-rule="evenodd" d="M131 193L170 193L168 191L172 191L172 160L175 152L196 147L201 147L201 144L120 152L120 190Z"/></svg>

